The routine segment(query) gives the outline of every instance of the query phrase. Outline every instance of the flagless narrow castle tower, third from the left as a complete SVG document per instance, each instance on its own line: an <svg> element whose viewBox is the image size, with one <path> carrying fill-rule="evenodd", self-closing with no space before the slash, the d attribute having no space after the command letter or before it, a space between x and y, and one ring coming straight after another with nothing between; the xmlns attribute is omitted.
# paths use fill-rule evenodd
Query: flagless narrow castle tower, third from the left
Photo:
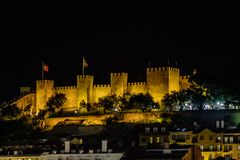
<svg viewBox="0 0 240 160"><path fill-rule="evenodd" d="M127 73L111 73L111 94L122 96L127 92Z"/></svg>

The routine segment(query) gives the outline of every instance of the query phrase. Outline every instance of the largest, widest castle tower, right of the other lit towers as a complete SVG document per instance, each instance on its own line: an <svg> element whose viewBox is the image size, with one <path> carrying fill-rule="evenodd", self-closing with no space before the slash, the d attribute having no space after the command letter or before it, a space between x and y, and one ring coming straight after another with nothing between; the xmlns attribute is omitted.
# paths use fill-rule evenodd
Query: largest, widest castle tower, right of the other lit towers
<svg viewBox="0 0 240 160"><path fill-rule="evenodd" d="M157 102L171 91L179 91L179 69L172 67L147 68L149 93Z"/></svg>

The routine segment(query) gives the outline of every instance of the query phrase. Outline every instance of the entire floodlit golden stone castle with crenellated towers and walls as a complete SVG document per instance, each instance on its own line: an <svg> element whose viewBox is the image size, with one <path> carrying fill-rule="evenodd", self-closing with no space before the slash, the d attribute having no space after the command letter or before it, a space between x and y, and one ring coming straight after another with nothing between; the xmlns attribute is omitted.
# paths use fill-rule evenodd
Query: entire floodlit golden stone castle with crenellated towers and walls
<svg viewBox="0 0 240 160"><path fill-rule="evenodd" d="M74 111L81 101L93 104L100 97L110 94L122 96L124 93L150 93L154 101L161 102L164 94L179 91L189 87L188 76L181 76L180 70L174 67L155 67L146 69L146 82L128 82L128 73L111 73L110 84L94 84L91 75L78 75L76 86L54 86L53 80L37 80L36 92L19 99L19 107L31 104L32 113L44 109L47 100L57 93L66 95L63 106L66 111Z"/></svg>

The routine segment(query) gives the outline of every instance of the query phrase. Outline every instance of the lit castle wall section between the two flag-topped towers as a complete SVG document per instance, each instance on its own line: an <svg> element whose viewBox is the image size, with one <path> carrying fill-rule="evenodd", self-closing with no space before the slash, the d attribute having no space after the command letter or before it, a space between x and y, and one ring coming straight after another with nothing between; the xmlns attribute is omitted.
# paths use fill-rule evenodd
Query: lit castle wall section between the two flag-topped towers
<svg viewBox="0 0 240 160"><path fill-rule="evenodd" d="M64 111L74 111L79 107L77 104L77 87L76 86L65 86L65 87L55 87L55 94L65 94L67 101L65 102L63 109Z"/></svg>

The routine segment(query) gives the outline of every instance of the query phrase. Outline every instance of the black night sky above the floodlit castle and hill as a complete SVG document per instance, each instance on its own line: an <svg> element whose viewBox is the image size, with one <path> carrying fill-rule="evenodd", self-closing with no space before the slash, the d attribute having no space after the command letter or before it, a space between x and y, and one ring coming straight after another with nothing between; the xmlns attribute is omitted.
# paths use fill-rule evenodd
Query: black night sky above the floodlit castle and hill
<svg viewBox="0 0 240 160"><path fill-rule="evenodd" d="M145 81L149 65L194 68L206 79L235 86L240 81L239 2L207 0L165 3L82 3L71 0L6 1L1 9L0 101L41 79L76 85L82 74L109 83L110 72ZM237 85L236 89L239 88Z"/></svg>

